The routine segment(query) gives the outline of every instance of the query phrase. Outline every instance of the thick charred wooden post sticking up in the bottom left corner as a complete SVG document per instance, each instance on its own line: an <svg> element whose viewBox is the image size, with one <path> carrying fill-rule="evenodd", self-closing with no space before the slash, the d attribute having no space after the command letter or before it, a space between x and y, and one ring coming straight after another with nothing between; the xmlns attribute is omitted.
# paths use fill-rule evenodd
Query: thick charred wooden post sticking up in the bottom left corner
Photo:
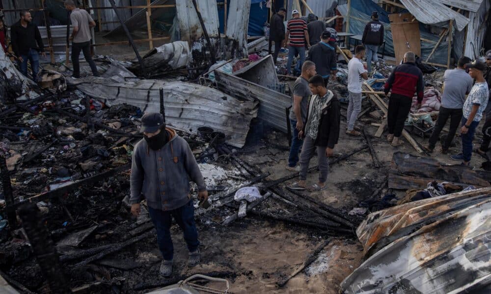
<svg viewBox="0 0 491 294"><path fill-rule="evenodd" d="M62 271L55 244L42 221L41 212L37 205L24 203L19 208L19 217L22 220L22 226L26 231L43 276L48 281L50 293L70 293L68 281Z"/></svg>

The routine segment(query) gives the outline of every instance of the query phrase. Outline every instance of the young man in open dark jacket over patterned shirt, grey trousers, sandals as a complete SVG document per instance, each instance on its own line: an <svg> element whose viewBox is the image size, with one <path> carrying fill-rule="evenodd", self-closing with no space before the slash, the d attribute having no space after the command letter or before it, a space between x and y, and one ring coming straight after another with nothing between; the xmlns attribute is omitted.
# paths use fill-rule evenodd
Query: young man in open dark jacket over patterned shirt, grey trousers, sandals
<svg viewBox="0 0 491 294"><path fill-rule="evenodd" d="M316 74L311 77L309 87L312 96L307 109L307 120L299 134L304 137L300 153L300 181L290 188L305 190L309 162L317 151L319 182L312 185L309 191L318 192L327 188L327 158L333 155L334 147L338 143L341 112L336 94L326 89L322 76Z"/></svg>

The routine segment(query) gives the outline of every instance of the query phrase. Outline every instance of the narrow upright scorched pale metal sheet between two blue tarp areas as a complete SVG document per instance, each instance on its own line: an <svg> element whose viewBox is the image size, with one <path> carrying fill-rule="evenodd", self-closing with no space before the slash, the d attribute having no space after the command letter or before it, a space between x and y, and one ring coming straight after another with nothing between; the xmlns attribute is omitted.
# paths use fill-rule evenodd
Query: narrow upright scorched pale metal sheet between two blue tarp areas
<svg viewBox="0 0 491 294"><path fill-rule="evenodd" d="M229 39L236 42L233 48L242 51L242 54L232 54L233 56L247 56L247 27L249 26L251 0L230 0L230 7L227 18L226 35Z"/></svg>

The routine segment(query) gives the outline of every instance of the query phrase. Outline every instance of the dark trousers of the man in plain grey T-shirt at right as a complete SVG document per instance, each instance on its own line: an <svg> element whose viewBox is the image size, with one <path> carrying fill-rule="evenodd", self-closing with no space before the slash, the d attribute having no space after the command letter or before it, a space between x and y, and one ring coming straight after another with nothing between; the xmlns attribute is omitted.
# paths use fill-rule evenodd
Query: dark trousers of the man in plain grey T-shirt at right
<svg viewBox="0 0 491 294"><path fill-rule="evenodd" d="M454 139L455 133L457 132L457 128L460 125L462 120L462 108L452 109L445 108L440 106L440 111L438 112L438 119L436 120L435 129L433 129L433 133L431 134L429 147L430 149L435 148L436 142L438 141L438 137L440 135L441 130L447 123L448 118L450 117L450 129L448 131L447 139L442 144L441 148L443 150L447 150L452 144L452 140Z"/></svg>

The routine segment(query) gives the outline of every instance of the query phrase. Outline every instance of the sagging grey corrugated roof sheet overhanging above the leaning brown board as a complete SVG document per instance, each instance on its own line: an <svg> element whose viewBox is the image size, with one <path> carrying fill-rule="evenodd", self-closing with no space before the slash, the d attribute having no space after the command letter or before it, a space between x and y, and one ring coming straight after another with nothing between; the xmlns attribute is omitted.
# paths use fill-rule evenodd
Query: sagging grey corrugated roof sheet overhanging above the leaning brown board
<svg viewBox="0 0 491 294"><path fill-rule="evenodd" d="M443 5L440 0L401 0L401 3L423 24L448 26L448 21L454 20L454 27L460 31L469 23L468 18Z"/></svg>

